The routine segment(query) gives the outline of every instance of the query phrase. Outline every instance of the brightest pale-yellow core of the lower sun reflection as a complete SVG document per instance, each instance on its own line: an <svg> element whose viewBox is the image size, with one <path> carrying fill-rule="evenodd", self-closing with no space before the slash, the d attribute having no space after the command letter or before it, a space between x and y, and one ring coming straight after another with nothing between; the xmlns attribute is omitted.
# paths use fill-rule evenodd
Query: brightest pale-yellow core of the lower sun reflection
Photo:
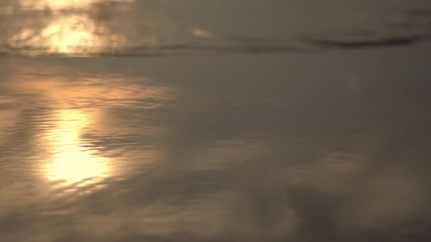
<svg viewBox="0 0 431 242"><path fill-rule="evenodd" d="M109 159L84 149L79 138L89 125L89 114L82 110L60 110L57 118L56 126L47 135L53 154L46 165L46 178L80 183L108 176Z"/></svg>

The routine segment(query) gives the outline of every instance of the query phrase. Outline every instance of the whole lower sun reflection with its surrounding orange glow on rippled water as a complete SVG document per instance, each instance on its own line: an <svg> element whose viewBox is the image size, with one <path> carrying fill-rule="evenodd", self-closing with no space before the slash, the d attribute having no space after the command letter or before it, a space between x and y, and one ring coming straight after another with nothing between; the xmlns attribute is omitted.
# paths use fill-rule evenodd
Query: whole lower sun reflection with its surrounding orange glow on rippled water
<svg viewBox="0 0 431 242"><path fill-rule="evenodd" d="M174 104L177 88L104 73L108 69L94 75L74 64L7 59L6 70L17 74L0 81L0 90L7 91L0 104L10 107L0 110L0 143L27 142L27 137L11 136L21 124L14 121L23 119L32 130L26 159L38 180L56 192L91 192L134 173L135 167L155 166L167 131L152 115Z"/></svg>

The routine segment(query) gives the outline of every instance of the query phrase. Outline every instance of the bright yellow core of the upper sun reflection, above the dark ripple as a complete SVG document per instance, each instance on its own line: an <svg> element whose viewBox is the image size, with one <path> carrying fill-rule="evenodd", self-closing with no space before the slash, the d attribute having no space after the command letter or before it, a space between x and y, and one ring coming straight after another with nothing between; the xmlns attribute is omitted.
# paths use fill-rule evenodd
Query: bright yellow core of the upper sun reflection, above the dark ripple
<svg viewBox="0 0 431 242"><path fill-rule="evenodd" d="M72 54L98 52L106 47L116 47L119 38L112 38L113 34L104 28L103 24L94 19L94 4L101 4L101 0L56 0L56 1L21 1L23 8L36 11L49 10L43 21L43 28L35 29L33 25L23 28L20 33L13 35L13 47L32 47L51 53ZM127 3L129 1L121 1ZM69 8L77 11L64 12ZM96 23L97 22L97 23ZM102 38L103 37L103 38ZM31 49L31 48L30 48Z"/></svg>

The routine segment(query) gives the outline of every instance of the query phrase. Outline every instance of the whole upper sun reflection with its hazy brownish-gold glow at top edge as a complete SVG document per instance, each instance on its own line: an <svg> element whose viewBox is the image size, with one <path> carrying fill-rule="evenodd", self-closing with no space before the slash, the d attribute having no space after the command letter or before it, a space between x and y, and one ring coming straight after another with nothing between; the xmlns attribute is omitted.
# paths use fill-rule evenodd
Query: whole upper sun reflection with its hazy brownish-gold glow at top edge
<svg viewBox="0 0 431 242"><path fill-rule="evenodd" d="M0 46L31 56L155 47L177 31L158 5L134 0L19 0L8 6L12 18L6 18L4 25L10 27L0 36Z"/></svg>

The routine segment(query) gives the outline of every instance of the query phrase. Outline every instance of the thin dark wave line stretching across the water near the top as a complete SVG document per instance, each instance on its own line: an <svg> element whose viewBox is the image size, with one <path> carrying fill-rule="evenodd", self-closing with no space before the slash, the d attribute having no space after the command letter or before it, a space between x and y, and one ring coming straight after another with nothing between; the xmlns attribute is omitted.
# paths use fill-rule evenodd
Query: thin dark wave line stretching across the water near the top
<svg viewBox="0 0 431 242"><path fill-rule="evenodd" d="M241 39L237 37L237 39ZM245 39L245 38L244 38ZM0 46L0 55L30 55L30 56L82 56L82 57L163 57L199 54L282 54L320 52L334 49L362 49L376 47L403 47L417 45L431 40L431 33L388 36L342 36L342 37L306 37L296 42L277 43L276 41L252 42L237 40L227 43L184 43L159 46L140 46L121 49L106 49L99 51L80 51L60 53L47 52L43 48L23 46Z"/></svg>

